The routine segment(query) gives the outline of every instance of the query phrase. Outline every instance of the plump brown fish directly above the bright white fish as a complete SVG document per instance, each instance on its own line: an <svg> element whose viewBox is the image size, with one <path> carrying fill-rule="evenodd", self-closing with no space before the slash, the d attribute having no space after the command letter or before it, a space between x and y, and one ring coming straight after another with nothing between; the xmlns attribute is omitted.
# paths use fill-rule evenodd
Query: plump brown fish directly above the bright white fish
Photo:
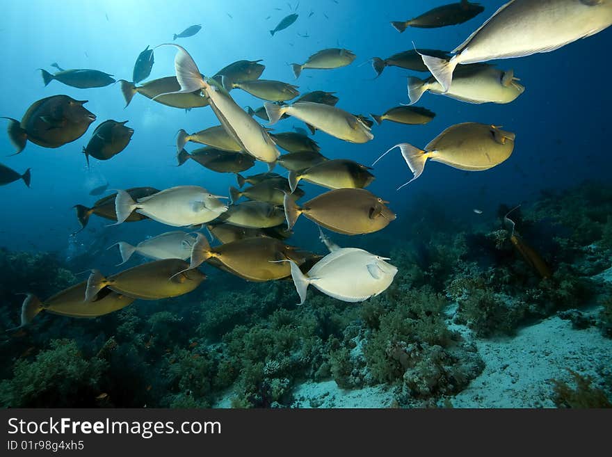
<svg viewBox="0 0 612 457"><path fill-rule="evenodd" d="M333 232L347 235L381 230L396 218L382 198L365 189L335 189L325 192L298 207L289 195L284 198L284 211L289 230L304 214Z"/></svg>

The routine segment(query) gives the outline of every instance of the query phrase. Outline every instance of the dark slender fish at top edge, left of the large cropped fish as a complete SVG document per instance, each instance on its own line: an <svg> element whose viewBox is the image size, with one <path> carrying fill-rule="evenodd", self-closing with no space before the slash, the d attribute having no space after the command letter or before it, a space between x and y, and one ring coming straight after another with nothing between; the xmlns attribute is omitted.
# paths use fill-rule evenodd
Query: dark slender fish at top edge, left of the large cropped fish
<svg viewBox="0 0 612 457"><path fill-rule="evenodd" d="M463 24L472 17L482 13L485 7L480 3L470 3L460 0L458 3L450 3L433 8L414 19L408 21L393 21L391 25L399 32L405 31L406 27L417 27L419 29L435 29L456 24Z"/></svg>

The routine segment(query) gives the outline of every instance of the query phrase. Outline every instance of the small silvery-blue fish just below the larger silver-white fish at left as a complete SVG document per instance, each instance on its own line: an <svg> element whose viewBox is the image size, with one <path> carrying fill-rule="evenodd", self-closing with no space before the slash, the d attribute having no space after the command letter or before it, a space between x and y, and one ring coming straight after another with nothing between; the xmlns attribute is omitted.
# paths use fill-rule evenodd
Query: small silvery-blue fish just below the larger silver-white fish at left
<svg viewBox="0 0 612 457"><path fill-rule="evenodd" d="M119 252L121 254L122 262L124 264L129 260L134 252L148 259L161 260L161 259L188 259L191 256L191 248L195 243L195 234L181 232L179 230L175 232L166 232L152 238L140 241L136 246L132 246L130 243L125 241L119 241L118 243L109 246L108 249L113 246L119 246Z"/></svg>

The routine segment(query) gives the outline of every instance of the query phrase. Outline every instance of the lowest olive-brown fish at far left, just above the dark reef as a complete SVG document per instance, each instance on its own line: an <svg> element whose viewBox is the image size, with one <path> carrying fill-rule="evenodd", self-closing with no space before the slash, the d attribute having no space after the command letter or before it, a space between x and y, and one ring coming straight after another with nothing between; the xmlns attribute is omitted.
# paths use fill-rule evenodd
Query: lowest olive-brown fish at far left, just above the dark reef
<svg viewBox="0 0 612 457"><path fill-rule="evenodd" d="M47 298L44 302L34 294L26 294L22 305L21 327L29 324L41 311L69 317L97 317L118 311L136 300L134 297L104 289L92 296L92 300L88 302L85 300L86 289L87 282L79 282Z"/></svg>

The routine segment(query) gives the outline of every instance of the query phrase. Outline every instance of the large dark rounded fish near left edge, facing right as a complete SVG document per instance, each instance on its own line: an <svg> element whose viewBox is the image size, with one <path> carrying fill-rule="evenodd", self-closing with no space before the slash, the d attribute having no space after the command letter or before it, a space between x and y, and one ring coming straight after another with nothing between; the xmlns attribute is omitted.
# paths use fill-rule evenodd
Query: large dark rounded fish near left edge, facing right
<svg viewBox="0 0 612 457"><path fill-rule="evenodd" d="M34 102L21 122L8 119L8 137L19 154L31 141L42 147L60 147L81 138L96 117L83 104L67 95L53 95Z"/></svg>

